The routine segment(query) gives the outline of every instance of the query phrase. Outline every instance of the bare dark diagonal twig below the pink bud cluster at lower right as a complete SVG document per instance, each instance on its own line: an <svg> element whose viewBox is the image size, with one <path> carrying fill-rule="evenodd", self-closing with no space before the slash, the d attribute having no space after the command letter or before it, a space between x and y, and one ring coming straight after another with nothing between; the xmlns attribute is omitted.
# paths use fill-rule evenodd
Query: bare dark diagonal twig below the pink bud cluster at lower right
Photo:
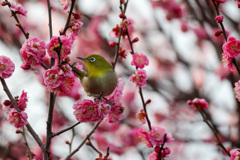
<svg viewBox="0 0 240 160"><path fill-rule="evenodd" d="M222 144L221 140L218 137L218 133L217 131L214 129L214 127L209 123L209 121L207 120L206 116L204 115L204 113L202 112L202 110L198 107L197 104L196 108L198 110L198 112L201 114L202 118L203 118L203 122L205 122L208 127L212 130L213 134L215 135L215 137L217 138L218 141L218 145L225 151L225 153L230 157L230 153L227 151L227 149L224 147L224 145Z"/></svg>

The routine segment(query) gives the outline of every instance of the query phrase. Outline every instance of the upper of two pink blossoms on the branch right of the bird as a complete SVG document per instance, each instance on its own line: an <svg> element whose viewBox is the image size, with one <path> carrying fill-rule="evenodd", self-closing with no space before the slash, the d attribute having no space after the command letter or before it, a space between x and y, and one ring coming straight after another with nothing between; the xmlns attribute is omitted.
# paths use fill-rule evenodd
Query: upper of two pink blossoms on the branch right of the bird
<svg viewBox="0 0 240 160"><path fill-rule="evenodd" d="M145 66L148 66L149 64L149 60L147 58L147 56L145 56L142 53L135 53L132 55L132 62L131 65L134 65L140 69L143 69Z"/></svg>

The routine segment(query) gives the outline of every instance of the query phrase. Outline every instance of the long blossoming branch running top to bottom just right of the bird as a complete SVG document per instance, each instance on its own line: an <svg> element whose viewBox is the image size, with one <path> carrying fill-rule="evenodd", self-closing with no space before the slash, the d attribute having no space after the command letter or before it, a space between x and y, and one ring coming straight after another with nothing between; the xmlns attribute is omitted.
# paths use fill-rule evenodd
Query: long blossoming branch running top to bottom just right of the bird
<svg viewBox="0 0 240 160"><path fill-rule="evenodd" d="M141 124L146 123L148 124L149 132L144 131L142 128L138 131L138 136L142 140L143 143L146 144L147 147L153 147L155 146L154 152L149 155L149 159L162 159L164 157L168 157L170 154L169 148L164 148L165 143L170 143L173 141L173 138L171 134L167 134L165 132L165 129L158 126L151 126L151 121L149 119L149 115L147 113L147 104L151 102L151 100L144 100L142 87L146 85L147 75L146 71L143 69L145 66L149 65L149 60L146 55L142 53L137 53L134 51L133 44L138 42L138 37L131 39L131 33L129 32L128 27L132 27L132 21L130 18L127 18L126 16L126 8L127 8L128 1L125 3L122 3L120 0L120 10L121 14L119 17L122 19L120 25L116 25L116 28L112 29L112 32L115 34L115 36L118 36L118 42L110 41L109 46L115 47L117 46L116 55L115 55L115 61L113 63L113 67L115 67L115 64L117 62L118 57L120 56L121 59L126 58L125 52L120 52L122 50L121 46L121 37L126 38L128 40L129 46L131 48L130 53L132 55L132 62L131 65L135 66L135 74L131 75L129 77L130 81L134 83L136 87L139 88L139 95L141 98L143 110L141 110L140 113L137 114L137 118L141 121ZM124 6L124 9L123 7ZM124 10L124 11L123 11ZM133 29L132 29L133 30ZM120 54L121 53L121 54ZM161 146L161 148L160 148Z"/></svg>

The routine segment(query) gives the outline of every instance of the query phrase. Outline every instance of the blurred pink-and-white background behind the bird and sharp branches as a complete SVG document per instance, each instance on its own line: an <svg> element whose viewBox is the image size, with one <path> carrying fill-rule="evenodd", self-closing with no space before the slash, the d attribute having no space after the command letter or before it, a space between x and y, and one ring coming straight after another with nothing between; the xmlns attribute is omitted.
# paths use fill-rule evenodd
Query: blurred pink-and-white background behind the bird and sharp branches
<svg viewBox="0 0 240 160"><path fill-rule="evenodd" d="M18 16L29 32L49 43L47 1L20 0L27 17ZM53 35L58 36L67 20L68 12L61 9L58 1L51 1ZM69 8L68 8L69 10ZM121 22L119 0L78 0L74 12L81 15L83 22L80 35L73 44L71 62L77 56L101 54L109 62L114 60L115 48L109 47L110 41L117 38L110 34ZM223 24L229 36L239 39L240 9L237 2L228 0L220 4ZM45 137L49 92L42 80L42 70L38 67L24 71L20 48L25 42L21 30L10 16L7 6L0 6L0 55L11 58L16 69L6 82L13 96L20 96L22 90L28 93L28 120L42 139ZM227 148L240 147L240 105L235 98L233 87L239 80L236 71L226 72L221 62L223 35L214 33L219 25L214 21L216 12L212 0L129 0L126 16L132 19L131 38L139 38L134 50L144 53L150 64L146 67L147 86L143 88L152 125L161 126L175 139L166 147L171 149L169 160L220 160L227 159L216 146L212 131L202 121L200 114L186 104L189 99L205 98L209 103L206 110L219 131L221 141ZM114 160L148 159L153 149L148 149L136 136L140 126L135 118L142 109L138 88L129 81L134 73L131 66L132 56L127 39L121 47L126 51L126 59L119 59L116 73L125 82L122 104L125 108L124 119L119 123L103 123L92 136L92 143L102 152L105 142L110 147L110 157ZM238 59L237 59L238 63ZM59 95L54 110L53 130L57 132L77 122L72 106L76 100L88 98L80 87L73 96ZM0 107L8 99L0 86ZM76 148L91 131L93 124L80 124L74 129L72 148ZM21 135L15 133L14 126L0 109L0 159L25 159L26 149ZM68 131L53 139L53 159L66 157L69 146L66 141L72 138ZM99 138L100 137L100 138ZM27 138L32 152L41 159L41 150L31 137ZM140 143L139 143L140 142ZM98 153L85 145L74 159L96 159Z"/></svg>

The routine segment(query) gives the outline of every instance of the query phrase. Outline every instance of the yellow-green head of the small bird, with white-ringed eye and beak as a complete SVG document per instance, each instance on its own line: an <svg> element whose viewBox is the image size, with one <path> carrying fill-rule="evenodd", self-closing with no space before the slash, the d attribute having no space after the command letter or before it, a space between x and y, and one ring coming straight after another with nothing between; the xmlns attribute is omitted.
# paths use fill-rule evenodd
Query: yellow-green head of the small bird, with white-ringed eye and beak
<svg viewBox="0 0 240 160"><path fill-rule="evenodd" d="M105 58L103 58L102 56L98 55L98 54L91 54L87 57L77 57L81 60L84 61L88 72L94 72L96 70L105 70L105 69L110 69L112 68L112 65L109 64Z"/></svg>

